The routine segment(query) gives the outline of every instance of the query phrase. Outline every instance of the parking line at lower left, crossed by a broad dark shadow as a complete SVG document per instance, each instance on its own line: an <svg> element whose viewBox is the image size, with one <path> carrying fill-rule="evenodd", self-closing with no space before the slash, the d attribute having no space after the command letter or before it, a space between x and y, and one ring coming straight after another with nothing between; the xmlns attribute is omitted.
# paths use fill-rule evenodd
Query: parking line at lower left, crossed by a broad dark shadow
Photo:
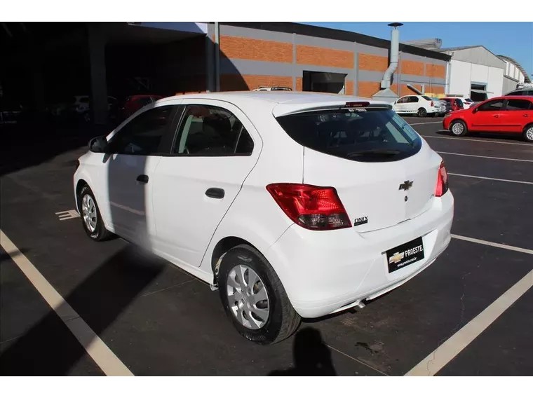
<svg viewBox="0 0 533 398"><path fill-rule="evenodd" d="M88 355L100 366L107 376L107 380L135 381L135 376L130 369L114 355L112 350L95 334L93 329L69 306L53 286L39 273L39 270L20 252L13 242L0 230L0 243L6 253L17 264L18 268L26 275L29 282L39 291L43 299L58 314L63 323L67 325L74 337L85 348Z"/></svg>

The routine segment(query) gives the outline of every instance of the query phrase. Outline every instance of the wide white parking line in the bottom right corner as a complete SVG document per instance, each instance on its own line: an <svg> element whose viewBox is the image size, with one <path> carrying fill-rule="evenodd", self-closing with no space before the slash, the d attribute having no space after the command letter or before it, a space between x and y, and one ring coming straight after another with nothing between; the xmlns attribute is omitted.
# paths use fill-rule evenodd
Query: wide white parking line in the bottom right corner
<svg viewBox="0 0 533 398"><path fill-rule="evenodd" d="M508 308L533 287L533 270L494 301L483 313L468 322L461 330L448 338L443 345L431 352L422 362L409 371L405 378L429 378L457 357L475 338L478 338Z"/></svg>

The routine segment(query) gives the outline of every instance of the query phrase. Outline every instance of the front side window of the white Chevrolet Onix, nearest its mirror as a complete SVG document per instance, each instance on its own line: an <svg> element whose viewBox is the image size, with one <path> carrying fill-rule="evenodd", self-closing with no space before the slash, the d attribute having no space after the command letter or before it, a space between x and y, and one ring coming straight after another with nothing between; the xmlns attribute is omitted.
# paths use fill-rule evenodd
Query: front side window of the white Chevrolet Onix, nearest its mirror
<svg viewBox="0 0 533 398"><path fill-rule="evenodd" d="M149 156L158 153L159 144L172 123L174 105L149 109L125 125L109 142L109 151Z"/></svg>

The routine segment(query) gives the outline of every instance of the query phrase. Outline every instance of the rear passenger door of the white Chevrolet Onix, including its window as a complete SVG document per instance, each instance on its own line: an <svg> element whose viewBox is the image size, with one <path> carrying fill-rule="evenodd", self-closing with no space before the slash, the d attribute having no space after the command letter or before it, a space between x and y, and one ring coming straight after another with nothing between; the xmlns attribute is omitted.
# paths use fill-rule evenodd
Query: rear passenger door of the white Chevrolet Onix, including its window
<svg viewBox="0 0 533 398"><path fill-rule="evenodd" d="M201 265L212 235L257 163L262 142L232 104L185 99L168 156L154 176L156 248L187 266Z"/></svg>

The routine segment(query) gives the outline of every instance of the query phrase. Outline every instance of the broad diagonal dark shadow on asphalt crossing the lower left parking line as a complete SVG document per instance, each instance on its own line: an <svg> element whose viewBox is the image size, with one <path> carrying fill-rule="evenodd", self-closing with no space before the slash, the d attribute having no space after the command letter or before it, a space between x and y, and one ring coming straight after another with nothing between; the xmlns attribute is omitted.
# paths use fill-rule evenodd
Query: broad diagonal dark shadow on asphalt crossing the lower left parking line
<svg viewBox="0 0 533 398"><path fill-rule="evenodd" d="M163 272L166 263L128 245L102 263L65 301L97 336L102 336L142 291ZM50 310L0 355L0 380L67 380L93 341L79 344L58 314ZM66 324L74 320L63 320Z"/></svg>

